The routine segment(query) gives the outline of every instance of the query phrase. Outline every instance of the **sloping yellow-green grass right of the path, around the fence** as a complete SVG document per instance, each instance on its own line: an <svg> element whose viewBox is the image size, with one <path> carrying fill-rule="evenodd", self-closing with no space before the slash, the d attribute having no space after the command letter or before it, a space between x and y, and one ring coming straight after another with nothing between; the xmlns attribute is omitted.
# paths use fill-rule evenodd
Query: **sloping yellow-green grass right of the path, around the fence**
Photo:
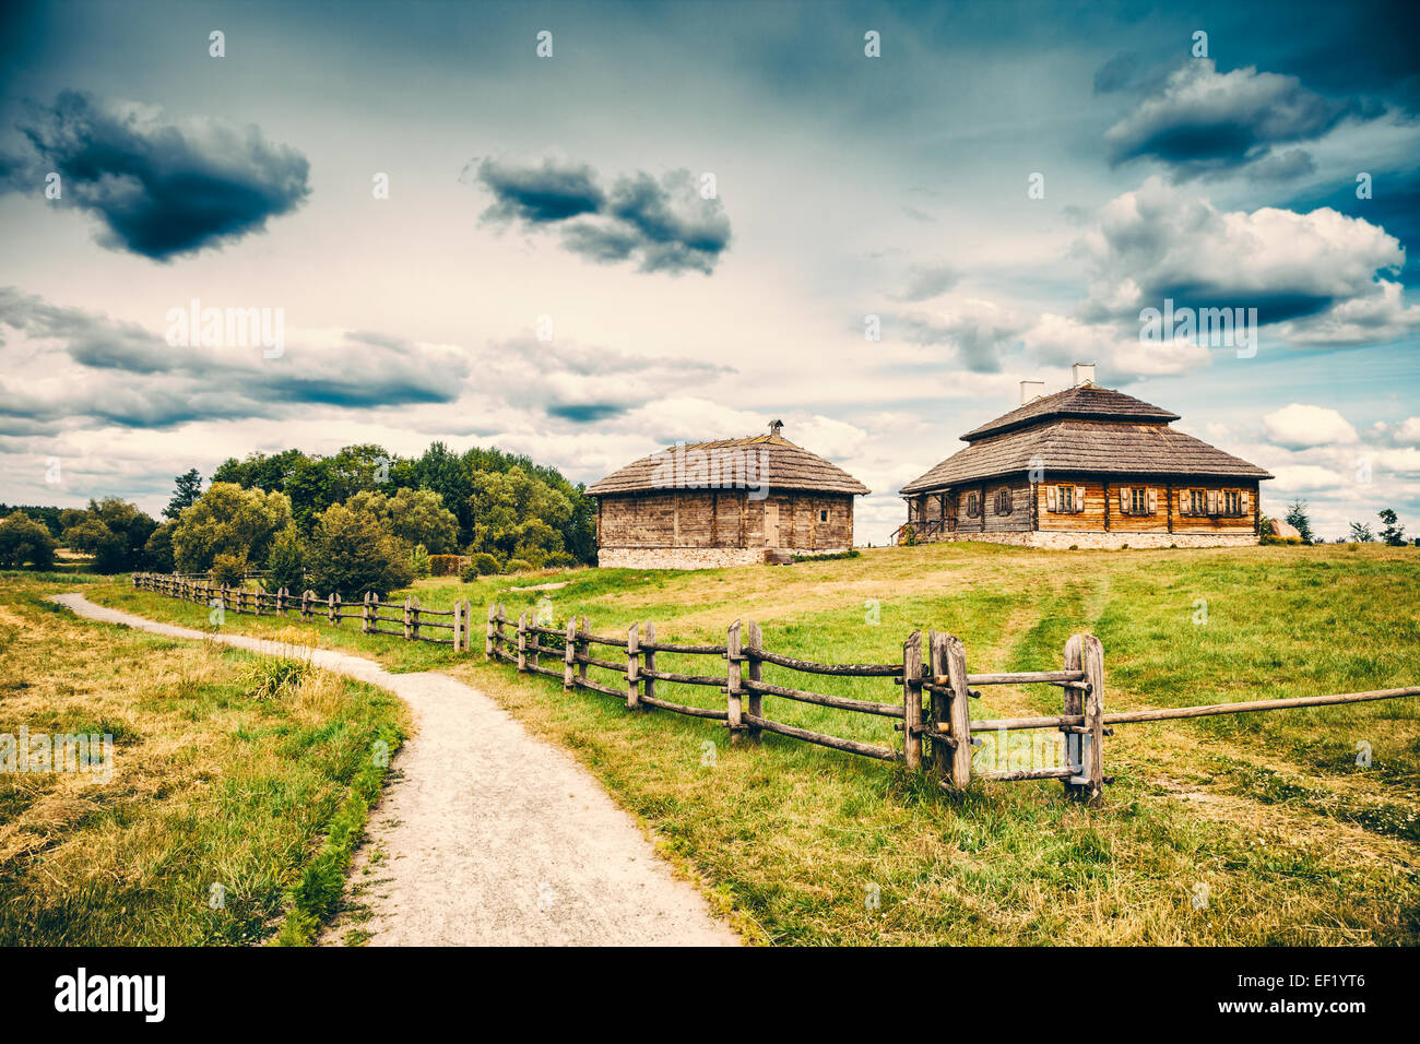
<svg viewBox="0 0 1420 1044"><path fill-rule="evenodd" d="M598 634L653 619L660 638L723 641L757 619L768 648L890 662L913 628L958 635L970 670L1049 669L1065 639L1105 645L1106 709L1183 706L1420 680L1413 548L1027 551L936 545L787 568L694 574L582 570L422 581L425 605L466 595L517 615L548 598ZM510 584L561 584L503 591ZM206 609L98 585L91 598L203 624ZM271 619L226 626L270 632ZM1058 783L943 793L882 763L723 726L628 713L481 656L453 658L311 625L395 669L444 669L571 749L674 861L772 943L1420 942L1420 700L1120 726L1116 783L1096 808ZM477 651L476 651L477 652ZM677 669L662 655L663 669ZM706 660L697 672L707 672ZM767 680L792 678L765 669ZM799 676L802 679L802 676ZM883 679L832 692L890 702ZM1042 692L1044 689L1044 692ZM713 689L667 699L723 706ZM1058 710L1059 690L994 687L974 716ZM889 719L765 699L780 720L900 743ZM1358 766L1358 744L1372 764ZM876 896L876 905L873 898Z"/></svg>

